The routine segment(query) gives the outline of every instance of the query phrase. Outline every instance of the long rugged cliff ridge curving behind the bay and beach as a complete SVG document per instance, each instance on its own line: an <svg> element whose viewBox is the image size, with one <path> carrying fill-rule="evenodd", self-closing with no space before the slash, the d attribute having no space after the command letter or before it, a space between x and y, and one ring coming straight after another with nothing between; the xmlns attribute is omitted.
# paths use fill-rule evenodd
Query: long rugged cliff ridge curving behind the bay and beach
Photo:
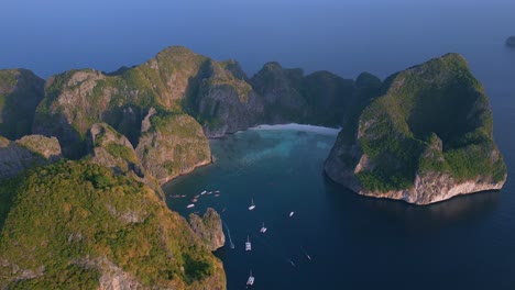
<svg viewBox="0 0 515 290"><path fill-rule="evenodd" d="M86 134L105 122L138 146L151 108L188 113L208 137L263 123L340 125L354 81L328 71L266 64L249 79L234 60L216 62L185 47L168 47L147 63L116 72L69 70L51 77L33 132L57 136L65 156L86 154ZM325 113L320 113L325 111Z"/></svg>

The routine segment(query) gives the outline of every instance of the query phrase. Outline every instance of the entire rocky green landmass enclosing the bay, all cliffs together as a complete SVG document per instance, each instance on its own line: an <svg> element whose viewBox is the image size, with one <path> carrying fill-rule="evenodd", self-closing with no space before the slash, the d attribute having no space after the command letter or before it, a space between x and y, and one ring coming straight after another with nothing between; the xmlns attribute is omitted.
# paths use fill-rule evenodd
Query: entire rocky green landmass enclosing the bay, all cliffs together
<svg viewBox="0 0 515 290"><path fill-rule="evenodd" d="M360 194L428 204L506 180L457 54L384 81L277 63L249 78L180 46L109 74L0 70L0 288L224 289L220 216L188 224L161 186L211 163L208 138L292 122L342 127L325 171Z"/></svg>

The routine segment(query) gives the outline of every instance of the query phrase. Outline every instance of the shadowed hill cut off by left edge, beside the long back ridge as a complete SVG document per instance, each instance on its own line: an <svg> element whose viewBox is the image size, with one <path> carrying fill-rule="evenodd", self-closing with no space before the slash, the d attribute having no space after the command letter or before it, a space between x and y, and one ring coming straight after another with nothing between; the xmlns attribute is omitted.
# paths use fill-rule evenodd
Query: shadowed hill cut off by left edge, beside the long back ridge
<svg viewBox="0 0 515 290"><path fill-rule="evenodd" d="M17 140L31 134L44 80L26 69L0 70L0 135Z"/></svg>

